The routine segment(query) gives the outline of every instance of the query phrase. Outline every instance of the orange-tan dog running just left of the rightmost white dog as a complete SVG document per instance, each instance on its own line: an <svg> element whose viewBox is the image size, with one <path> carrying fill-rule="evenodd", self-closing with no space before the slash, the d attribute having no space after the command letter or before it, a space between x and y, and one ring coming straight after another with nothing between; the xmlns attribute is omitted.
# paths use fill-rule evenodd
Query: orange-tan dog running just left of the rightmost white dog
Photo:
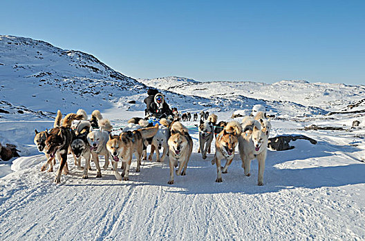
<svg viewBox="0 0 365 241"><path fill-rule="evenodd" d="M227 169L234 158L234 149L238 144L238 137L241 136L241 132L242 127L240 123L231 121L216 137L216 155L212 160L212 165L216 164L217 167L216 182L222 182L222 173L227 173ZM223 159L227 159L227 163L225 163L225 166L222 169L221 160Z"/></svg>

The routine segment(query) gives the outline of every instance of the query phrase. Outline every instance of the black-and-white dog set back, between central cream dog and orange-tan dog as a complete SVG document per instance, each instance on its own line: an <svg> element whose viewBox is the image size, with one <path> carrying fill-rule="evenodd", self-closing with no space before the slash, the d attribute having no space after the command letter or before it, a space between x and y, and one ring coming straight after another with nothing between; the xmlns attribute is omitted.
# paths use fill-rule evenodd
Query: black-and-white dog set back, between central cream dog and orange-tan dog
<svg viewBox="0 0 365 241"><path fill-rule="evenodd" d="M201 151L202 158L207 158L207 153L210 153L212 140L214 138L214 125L216 125L217 116L211 114L207 117L206 121L200 120L199 129L199 148L198 152Z"/></svg>

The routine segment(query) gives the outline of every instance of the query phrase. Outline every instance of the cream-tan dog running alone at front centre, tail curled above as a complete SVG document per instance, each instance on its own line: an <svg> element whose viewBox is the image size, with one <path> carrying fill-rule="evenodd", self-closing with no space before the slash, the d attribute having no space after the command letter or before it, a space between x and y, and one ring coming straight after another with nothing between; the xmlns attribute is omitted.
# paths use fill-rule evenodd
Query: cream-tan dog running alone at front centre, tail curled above
<svg viewBox="0 0 365 241"><path fill-rule="evenodd" d="M191 151L193 151L193 140L187 128L179 121L171 123L170 128L171 136L168 141L170 180L167 183L171 185L174 184L174 169L178 166L178 161L180 161L180 164L178 170L176 170L176 175L186 175L187 162L191 156Z"/></svg>

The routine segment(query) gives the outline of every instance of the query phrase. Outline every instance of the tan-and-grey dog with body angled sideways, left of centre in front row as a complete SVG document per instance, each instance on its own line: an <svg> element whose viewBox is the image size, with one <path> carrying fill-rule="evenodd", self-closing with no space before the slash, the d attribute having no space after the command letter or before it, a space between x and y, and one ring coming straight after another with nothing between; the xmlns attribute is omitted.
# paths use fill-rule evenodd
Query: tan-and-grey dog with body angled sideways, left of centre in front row
<svg viewBox="0 0 365 241"><path fill-rule="evenodd" d="M143 139L151 138L156 135L158 131L158 125L154 127L147 127L143 129L137 129L133 132L122 132L120 136L109 135L109 140L106 143L106 149L111 154L114 175L117 180L129 180L129 169L131 167L131 161L133 154L137 158L137 169L140 171L142 151L143 151ZM118 173L118 162L122 161L123 172L122 175Z"/></svg>

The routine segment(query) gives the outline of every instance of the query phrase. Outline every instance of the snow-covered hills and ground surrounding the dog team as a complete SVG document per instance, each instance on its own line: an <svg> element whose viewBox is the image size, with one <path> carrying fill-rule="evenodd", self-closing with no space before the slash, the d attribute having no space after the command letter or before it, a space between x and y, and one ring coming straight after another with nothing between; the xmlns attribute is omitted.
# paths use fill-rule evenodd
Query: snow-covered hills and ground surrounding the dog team
<svg viewBox="0 0 365 241"><path fill-rule="evenodd" d="M9 112L0 114L0 141L21 150L21 158L0 162L0 240L365 239L364 85L135 81L88 54L13 36L0 36L0 83L0 109ZM93 164L84 180L71 155L60 185L55 173L40 171L46 158L32 143L34 129L51 128L57 109L100 109L119 129L143 116L147 86L181 112L208 110L218 121L263 104L275 115L271 137L303 134L318 143L269 150L262 187L257 162L245 177L237 152L223 182L214 182L214 147L203 160L193 121L184 123L194 140L187 176L174 185L168 158L142 163L140 173L133 162L129 181L115 180L110 167L95 178ZM351 128L355 120L360 125ZM304 130L312 124L344 130Z"/></svg>

